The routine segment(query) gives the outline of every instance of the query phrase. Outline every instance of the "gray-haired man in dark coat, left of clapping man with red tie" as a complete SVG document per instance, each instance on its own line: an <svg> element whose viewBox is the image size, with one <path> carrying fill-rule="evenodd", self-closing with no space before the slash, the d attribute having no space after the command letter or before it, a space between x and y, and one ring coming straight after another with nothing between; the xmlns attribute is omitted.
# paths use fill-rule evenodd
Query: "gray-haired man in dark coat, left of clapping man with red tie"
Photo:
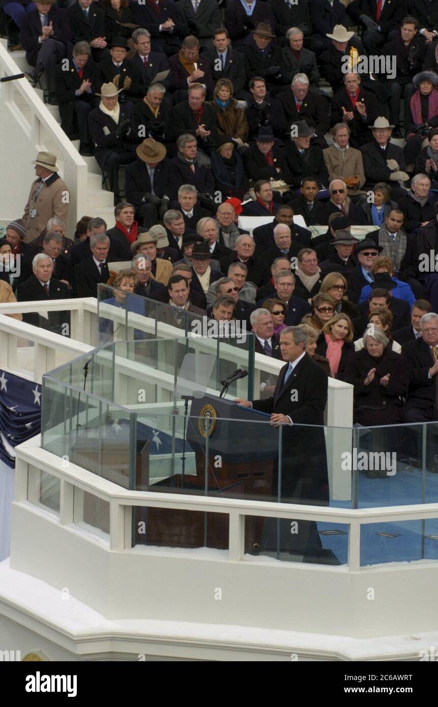
<svg viewBox="0 0 438 707"><path fill-rule="evenodd" d="M304 120L313 128L312 146L328 147L324 139L330 129L328 100L315 90L309 91L309 78L306 74L295 74L290 88L279 93L277 100L282 102L289 124Z"/></svg>

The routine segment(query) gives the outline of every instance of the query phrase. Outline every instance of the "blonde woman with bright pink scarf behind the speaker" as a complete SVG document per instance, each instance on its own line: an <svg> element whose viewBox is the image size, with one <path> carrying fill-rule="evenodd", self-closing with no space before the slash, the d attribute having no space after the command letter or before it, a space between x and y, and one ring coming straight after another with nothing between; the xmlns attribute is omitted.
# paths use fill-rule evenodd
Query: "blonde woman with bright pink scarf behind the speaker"
<svg viewBox="0 0 438 707"><path fill-rule="evenodd" d="M350 317L346 314L335 314L323 326L322 335L318 339L320 343L316 346L316 353L328 358L333 378L343 380L342 374L347 366L347 361L355 351L352 340L353 325Z"/></svg>

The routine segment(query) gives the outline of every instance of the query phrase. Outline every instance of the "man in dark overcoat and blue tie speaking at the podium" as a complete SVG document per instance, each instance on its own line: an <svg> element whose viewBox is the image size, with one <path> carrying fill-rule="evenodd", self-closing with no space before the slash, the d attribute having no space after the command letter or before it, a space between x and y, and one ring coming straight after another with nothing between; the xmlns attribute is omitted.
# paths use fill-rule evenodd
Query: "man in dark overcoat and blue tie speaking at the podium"
<svg viewBox="0 0 438 707"><path fill-rule="evenodd" d="M235 402L270 414L272 426L284 426L281 501L322 505L328 503L329 496L323 431L328 376L306 354L306 342L306 334L299 327L283 329L280 349L287 363L279 373L274 394L253 402L240 398ZM275 468L272 488L275 498L279 486L277 479L278 468ZM316 524L299 521L295 536L290 532L290 527L290 520L280 521L280 548L303 556L305 561L321 562L325 553ZM271 551L277 546L276 528L277 521L267 519L262 551Z"/></svg>

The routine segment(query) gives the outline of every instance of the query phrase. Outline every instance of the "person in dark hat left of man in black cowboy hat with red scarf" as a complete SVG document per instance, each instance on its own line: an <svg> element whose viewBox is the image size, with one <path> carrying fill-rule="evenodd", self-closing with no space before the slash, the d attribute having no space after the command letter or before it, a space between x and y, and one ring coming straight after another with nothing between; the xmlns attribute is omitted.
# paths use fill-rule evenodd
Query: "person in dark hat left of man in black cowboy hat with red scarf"
<svg viewBox="0 0 438 707"><path fill-rule="evenodd" d="M237 143L229 135L221 135L217 140L217 148L210 155L212 173L216 189L222 194L221 201L236 197L243 201L249 189L248 177L239 155Z"/></svg>

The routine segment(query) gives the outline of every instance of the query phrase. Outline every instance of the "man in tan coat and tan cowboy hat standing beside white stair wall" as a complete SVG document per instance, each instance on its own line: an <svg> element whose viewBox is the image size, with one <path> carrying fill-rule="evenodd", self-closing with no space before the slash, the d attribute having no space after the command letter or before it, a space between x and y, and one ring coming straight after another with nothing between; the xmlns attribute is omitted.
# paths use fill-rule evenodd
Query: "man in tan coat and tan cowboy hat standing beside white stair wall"
<svg viewBox="0 0 438 707"><path fill-rule="evenodd" d="M67 223L69 214L69 190L59 177L56 155L39 152L32 164L35 165L37 179L30 187L22 216L26 229L25 243L37 238L53 216Z"/></svg>

